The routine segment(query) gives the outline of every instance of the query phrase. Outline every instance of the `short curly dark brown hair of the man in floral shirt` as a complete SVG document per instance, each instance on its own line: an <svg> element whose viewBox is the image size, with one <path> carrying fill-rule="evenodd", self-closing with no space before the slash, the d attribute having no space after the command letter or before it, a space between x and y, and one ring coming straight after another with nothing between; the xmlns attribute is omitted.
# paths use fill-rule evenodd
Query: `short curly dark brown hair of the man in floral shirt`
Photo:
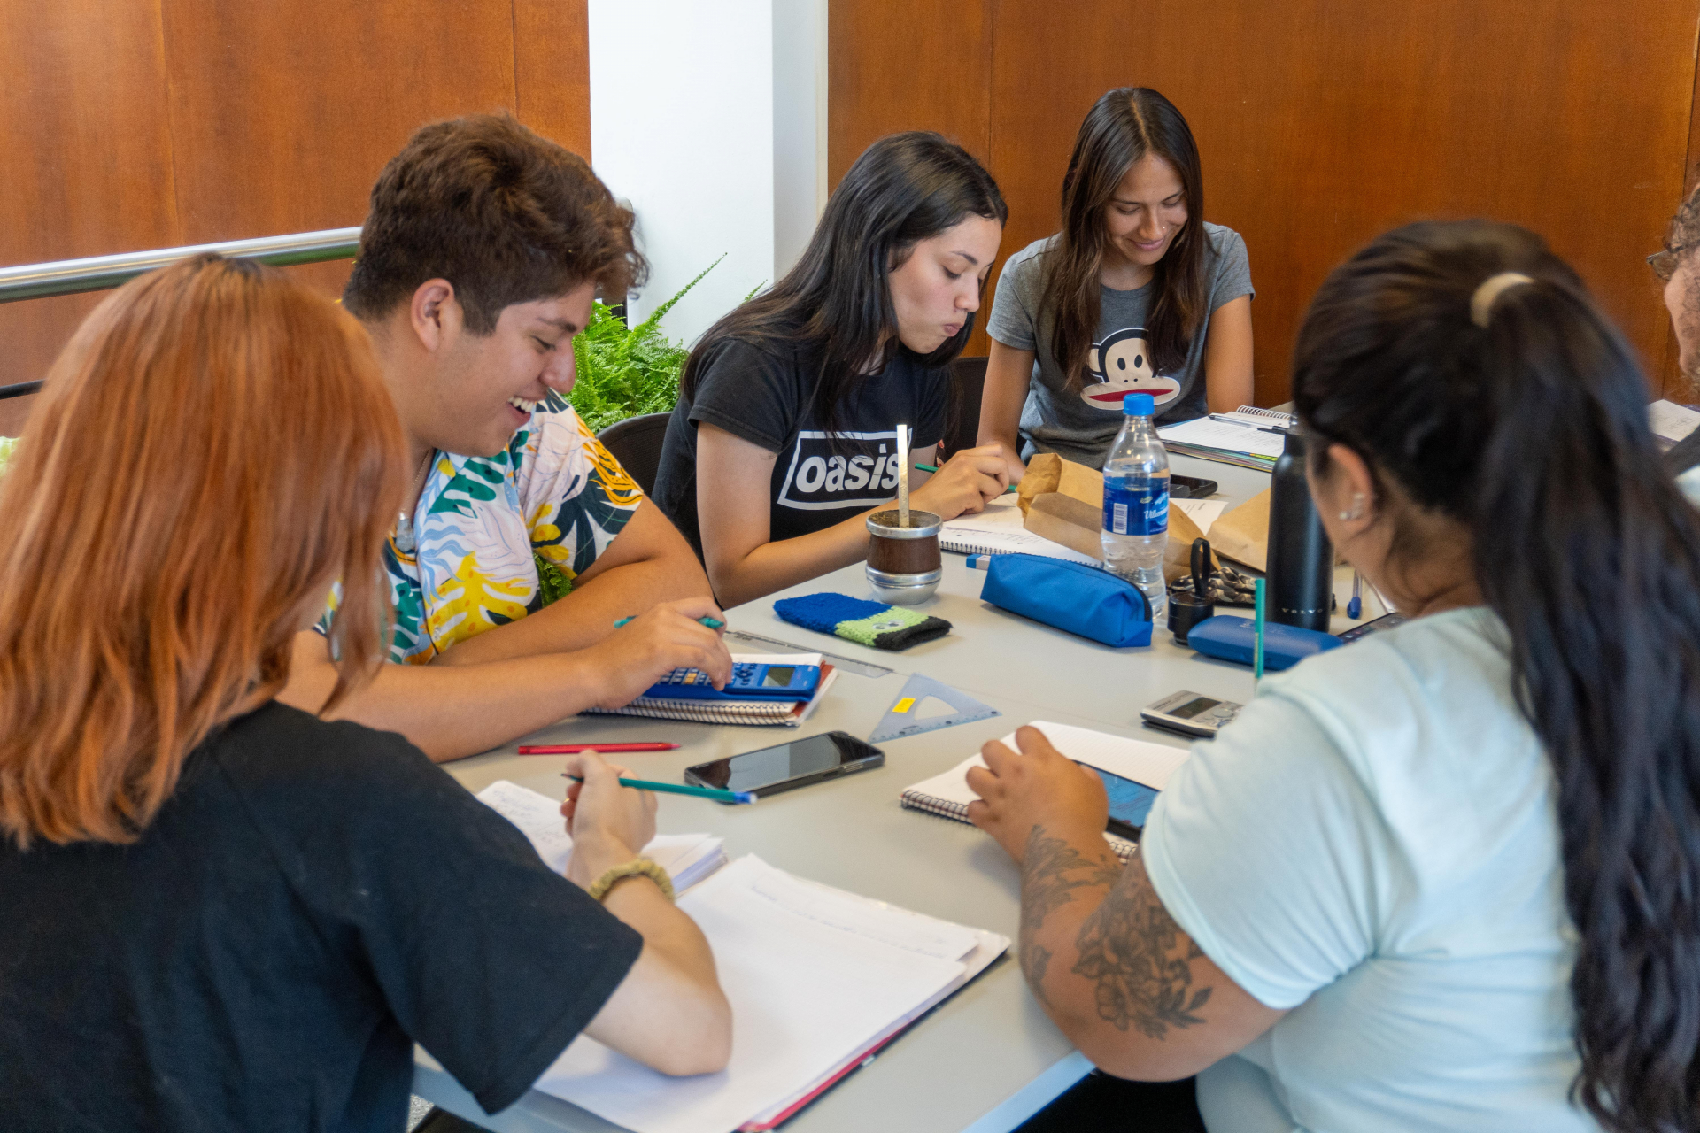
<svg viewBox="0 0 1700 1133"><path fill-rule="evenodd" d="M468 330L490 335L503 307L586 280L622 302L644 270L631 209L581 156L510 114L474 114L420 127L377 175L342 301L371 323L442 277Z"/></svg>

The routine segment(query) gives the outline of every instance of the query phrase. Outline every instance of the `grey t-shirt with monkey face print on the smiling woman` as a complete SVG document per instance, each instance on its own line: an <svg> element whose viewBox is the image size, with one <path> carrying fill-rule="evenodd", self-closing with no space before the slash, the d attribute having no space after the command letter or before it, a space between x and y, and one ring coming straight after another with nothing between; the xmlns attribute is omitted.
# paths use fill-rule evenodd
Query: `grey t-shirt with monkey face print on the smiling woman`
<svg viewBox="0 0 1700 1133"><path fill-rule="evenodd" d="M1103 454L1122 428L1122 397L1148 392L1156 399L1158 423L1171 425L1205 414L1204 343L1210 314L1251 287L1246 241L1231 228L1205 221L1210 240L1205 255L1209 313L1192 336L1187 364L1180 370L1154 374L1146 357L1146 314L1154 284L1137 290L1098 287L1098 330L1088 353L1086 382L1069 391L1068 375L1051 353L1052 316L1044 302L1044 255L1056 236L1039 240L1010 256L998 277L986 333L1005 347L1034 352L1034 379L1022 408L1022 454L1056 452L1091 467L1103 465Z"/></svg>

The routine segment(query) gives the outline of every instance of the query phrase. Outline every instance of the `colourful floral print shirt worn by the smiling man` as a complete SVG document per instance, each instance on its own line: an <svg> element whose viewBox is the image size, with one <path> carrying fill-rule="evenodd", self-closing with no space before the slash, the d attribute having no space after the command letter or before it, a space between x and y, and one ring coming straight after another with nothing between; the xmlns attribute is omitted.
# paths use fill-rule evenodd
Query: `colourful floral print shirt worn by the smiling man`
<svg viewBox="0 0 1700 1133"><path fill-rule="evenodd" d="M541 610L539 559L571 583L641 503L638 482L556 394L493 457L437 452L413 510L415 552L401 554L394 537L384 545L389 659L427 664Z"/></svg>

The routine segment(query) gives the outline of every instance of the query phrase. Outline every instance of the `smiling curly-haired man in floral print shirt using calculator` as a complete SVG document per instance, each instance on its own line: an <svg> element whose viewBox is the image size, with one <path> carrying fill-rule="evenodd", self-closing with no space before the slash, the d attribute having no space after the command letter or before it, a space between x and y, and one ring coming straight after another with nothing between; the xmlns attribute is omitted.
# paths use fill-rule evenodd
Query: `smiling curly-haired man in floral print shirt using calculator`
<svg viewBox="0 0 1700 1133"><path fill-rule="evenodd" d="M631 211L508 116L425 126L384 166L343 306L408 438L384 545L396 664L337 715L454 759L677 668L731 676L690 545L564 399L592 297L643 272ZM286 703L337 685L335 617L298 639Z"/></svg>

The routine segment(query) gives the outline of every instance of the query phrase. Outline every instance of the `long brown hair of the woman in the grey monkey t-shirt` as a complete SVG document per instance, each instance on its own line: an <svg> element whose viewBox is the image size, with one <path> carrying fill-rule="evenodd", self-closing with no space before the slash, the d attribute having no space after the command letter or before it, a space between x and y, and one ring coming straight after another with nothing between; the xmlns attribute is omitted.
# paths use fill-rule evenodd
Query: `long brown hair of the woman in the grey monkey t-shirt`
<svg viewBox="0 0 1700 1133"><path fill-rule="evenodd" d="M1046 253L1044 294L1052 304L1051 353L1069 389L1086 379L1086 353L1098 330L1098 273L1103 268L1103 209L1127 170L1154 153L1180 173L1187 223L1156 263L1156 302L1146 318L1154 372L1185 365L1207 302L1204 289L1204 170L1198 144L1175 104L1148 87L1117 87L1080 124L1062 175L1062 231Z"/></svg>

